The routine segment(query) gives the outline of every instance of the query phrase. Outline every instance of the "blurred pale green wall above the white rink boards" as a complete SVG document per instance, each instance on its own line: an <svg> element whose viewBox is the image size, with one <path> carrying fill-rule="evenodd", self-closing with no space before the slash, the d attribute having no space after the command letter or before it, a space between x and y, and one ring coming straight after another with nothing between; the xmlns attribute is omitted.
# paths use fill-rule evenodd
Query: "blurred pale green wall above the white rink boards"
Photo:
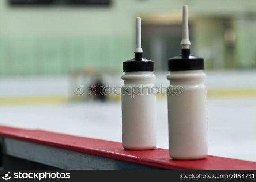
<svg viewBox="0 0 256 182"><path fill-rule="evenodd" d="M189 12L194 15L193 44L197 54L205 47L212 47L216 37L220 45L224 44L221 19L231 17L237 32L234 59L238 67L252 67L256 44L252 43L248 50L246 40L256 39L256 27L246 24L251 27L248 34L247 28L237 20L248 12L256 13L255 0L246 3L242 0L112 0L110 7L80 8L10 7L7 0L2 0L0 76L66 74L86 66L121 71L122 62L133 56L135 17L170 13L172 19L171 13L181 14L183 4L188 4ZM207 60L209 69L218 68L213 66L221 64L217 59L227 59L223 49L219 48L219 57Z"/></svg>

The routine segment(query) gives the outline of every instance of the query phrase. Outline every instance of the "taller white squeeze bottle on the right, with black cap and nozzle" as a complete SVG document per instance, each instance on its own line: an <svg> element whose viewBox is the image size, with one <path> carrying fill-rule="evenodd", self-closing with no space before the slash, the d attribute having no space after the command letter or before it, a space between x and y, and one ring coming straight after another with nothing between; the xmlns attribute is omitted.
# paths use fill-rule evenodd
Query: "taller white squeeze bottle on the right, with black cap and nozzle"
<svg viewBox="0 0 256 182"><path fill-rule="evenodd" d="M203 58L190 55L187 8L183 6L182 54L169 59L167 76L172 88L181 90L168 94L170 157L180 160L208 155L206 74Z"/></svg>

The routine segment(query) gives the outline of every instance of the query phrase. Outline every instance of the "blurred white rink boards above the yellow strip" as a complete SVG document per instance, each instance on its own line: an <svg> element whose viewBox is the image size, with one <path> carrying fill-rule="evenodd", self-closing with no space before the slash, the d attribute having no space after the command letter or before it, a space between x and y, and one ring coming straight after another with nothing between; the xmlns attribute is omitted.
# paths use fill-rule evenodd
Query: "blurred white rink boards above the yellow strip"
<svg viewBox="0 0 256 182"><path fill-rule="evenodd" d="M155 85L169 86L166 79L168 72L155 72L157 79ZM248 89L256 88L256 70L251 71L206 71L206 86L208 90L214 89ZM101 76L106 86L122 86L122 73L117 75ZM70 96L76 88L90 84L91 76L25 76L0 78L0 97L12 96L39 96L63 95Z"/></svg>

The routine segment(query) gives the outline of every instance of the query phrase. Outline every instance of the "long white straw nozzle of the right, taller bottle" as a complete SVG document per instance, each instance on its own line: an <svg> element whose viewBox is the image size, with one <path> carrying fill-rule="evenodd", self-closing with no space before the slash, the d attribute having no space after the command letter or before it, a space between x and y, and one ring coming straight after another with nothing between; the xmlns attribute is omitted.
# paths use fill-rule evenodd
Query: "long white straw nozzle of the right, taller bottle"
<svg viewBox="0 0 256 182"><path fill-rule="evenodd" d="M191 42L188 38L188 6L183 5L183 19L182 19L182 40L181 40L181 48L189 49Z"/></svg>

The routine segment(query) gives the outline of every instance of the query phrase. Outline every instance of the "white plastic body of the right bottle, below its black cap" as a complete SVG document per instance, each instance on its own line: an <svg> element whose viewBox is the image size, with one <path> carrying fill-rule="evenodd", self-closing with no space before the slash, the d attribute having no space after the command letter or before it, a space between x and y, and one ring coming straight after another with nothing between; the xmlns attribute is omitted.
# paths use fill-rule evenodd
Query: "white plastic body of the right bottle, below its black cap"
<svg viewBox="0 0 256 182"><path fill-rule="evenodd" d="M170 157L180 160L203 159L208 155L206 74L202 70L171 71L168 94Z"/></svg>

